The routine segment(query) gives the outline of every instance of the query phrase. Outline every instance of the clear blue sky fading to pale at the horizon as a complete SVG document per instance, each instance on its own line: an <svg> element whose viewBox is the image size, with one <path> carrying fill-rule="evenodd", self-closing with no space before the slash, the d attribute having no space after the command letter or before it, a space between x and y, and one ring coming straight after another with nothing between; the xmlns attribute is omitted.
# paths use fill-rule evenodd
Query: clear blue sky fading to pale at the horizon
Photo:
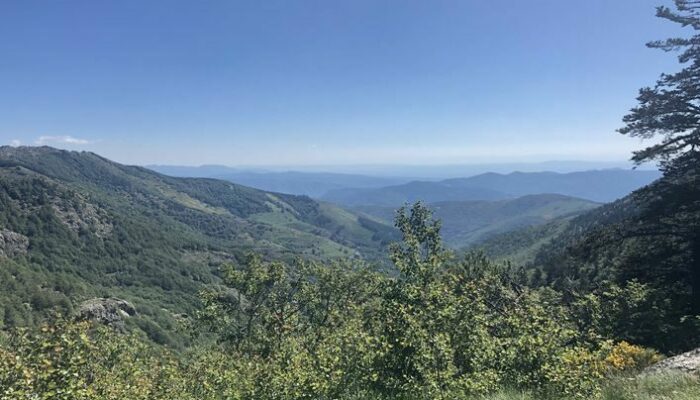
<svg viewBox="0 0 700 400"><path fill-rule="evenodd" d="M0 144L135 164L621 160L669 0L0 2Z"/></svg>

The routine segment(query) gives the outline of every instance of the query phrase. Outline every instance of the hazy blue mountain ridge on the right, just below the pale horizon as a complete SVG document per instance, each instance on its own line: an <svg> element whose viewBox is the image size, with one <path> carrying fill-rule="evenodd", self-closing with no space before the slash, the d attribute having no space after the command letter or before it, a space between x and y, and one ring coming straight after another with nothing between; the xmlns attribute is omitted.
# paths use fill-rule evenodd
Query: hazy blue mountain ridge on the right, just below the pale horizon
<svg viewBox="0 0 700 400"><path fill-rule="evenodd" d="M328 192L323 200L345 206L398 206L465 200L504 200L552 193L594 202L610 202L653 182L658 171L607 169L571 173L486 173L438 182L413 181L382 188L346 188Z"/></svg>

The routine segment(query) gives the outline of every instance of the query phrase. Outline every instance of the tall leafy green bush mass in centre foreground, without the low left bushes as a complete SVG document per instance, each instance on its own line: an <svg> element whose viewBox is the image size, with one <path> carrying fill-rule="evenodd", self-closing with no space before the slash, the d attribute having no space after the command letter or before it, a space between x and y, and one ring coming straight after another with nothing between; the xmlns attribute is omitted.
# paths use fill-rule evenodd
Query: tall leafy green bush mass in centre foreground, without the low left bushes
<svg viewBox="0 0 700 400"><path fill-rule="evenodd" d="M258 257L226 267L226 286L203 294L200 321L257 368L244 397L467 398L505 386L579 398L644 364L642 349L577 324L592 304L570 308L480 255L452 261L423 205L396 223L397 275Z"/></svg>

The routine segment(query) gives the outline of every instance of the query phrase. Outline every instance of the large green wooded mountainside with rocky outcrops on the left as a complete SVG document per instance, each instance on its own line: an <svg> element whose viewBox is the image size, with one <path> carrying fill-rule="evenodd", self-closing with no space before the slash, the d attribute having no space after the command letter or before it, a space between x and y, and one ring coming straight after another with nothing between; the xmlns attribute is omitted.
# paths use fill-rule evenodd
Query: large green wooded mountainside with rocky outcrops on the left
<svg viewBox="0 0 700 400"><path fill-rule="evenodd" d="M172 178L92 153L0 147L0 321L32 324L76 302L134 302L162 342L219 265L371 257L392 230L308 197Z"/></svg>

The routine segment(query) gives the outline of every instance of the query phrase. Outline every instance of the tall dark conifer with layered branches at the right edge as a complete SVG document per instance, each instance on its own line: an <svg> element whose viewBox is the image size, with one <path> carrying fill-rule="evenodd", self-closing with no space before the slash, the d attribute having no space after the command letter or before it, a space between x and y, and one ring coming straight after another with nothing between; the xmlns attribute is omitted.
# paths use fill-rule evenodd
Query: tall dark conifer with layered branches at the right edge
<svg viewBox="0 0 700 400"><path fill-rule="evenodd" d="M675 10L658 7L656 15L692 30L689 37L654 41L648 47L679 52L684 66L662 74L654 87L640 90L639 104L623 118L619 132L642 139L660 139L634 152L637 164L659 161L665 178L654 190L635 193L642 213L625 229L625 237L682 241L689 257L672 269L673 280L687 284L691 313L700 314L700 1L675 0ZM679 252L679 251L677 251ZM657 263L658 264L658 263ZM677 275L677 276L674 276Z"/></svg>

